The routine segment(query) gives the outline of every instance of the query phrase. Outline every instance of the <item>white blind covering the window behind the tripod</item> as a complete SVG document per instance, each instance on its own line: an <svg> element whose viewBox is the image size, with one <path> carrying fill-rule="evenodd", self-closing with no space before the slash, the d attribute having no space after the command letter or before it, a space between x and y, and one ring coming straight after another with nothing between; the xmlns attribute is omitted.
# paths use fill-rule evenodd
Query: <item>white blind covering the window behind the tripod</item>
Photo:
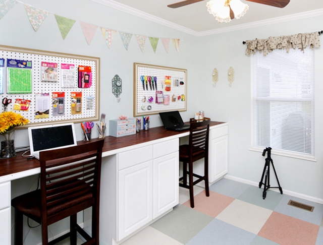
<svg viewBox="0 0 323 245"><path fill-rule="evenodd" d="M314 50L252 55L252 147L314 158Z"/></svg>

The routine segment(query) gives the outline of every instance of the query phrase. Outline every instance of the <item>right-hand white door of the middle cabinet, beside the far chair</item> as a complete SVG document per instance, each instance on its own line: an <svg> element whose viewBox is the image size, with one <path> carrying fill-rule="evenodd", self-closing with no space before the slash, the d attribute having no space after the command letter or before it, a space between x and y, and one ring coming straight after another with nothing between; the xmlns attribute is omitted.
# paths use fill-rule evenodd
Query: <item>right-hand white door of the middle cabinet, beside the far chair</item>
<svg viewBox="0 0 323 245"><path fill-rule="evenodd" d="M153 160L153 219L179 203L178 152Z"/></svg>

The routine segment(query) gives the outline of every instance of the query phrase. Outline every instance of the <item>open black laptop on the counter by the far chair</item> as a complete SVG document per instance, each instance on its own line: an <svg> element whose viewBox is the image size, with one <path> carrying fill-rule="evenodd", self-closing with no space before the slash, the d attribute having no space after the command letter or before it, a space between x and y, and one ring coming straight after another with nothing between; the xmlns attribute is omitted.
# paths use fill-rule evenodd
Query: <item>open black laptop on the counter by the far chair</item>
<svg viewBox="0 0 323 245"><path fill-rule="evenodd" d="M163 121L165 129L174 131L183 131L190 128L189 125L184 124L184 121L178 110L159 112L161 121Z"/></svg>

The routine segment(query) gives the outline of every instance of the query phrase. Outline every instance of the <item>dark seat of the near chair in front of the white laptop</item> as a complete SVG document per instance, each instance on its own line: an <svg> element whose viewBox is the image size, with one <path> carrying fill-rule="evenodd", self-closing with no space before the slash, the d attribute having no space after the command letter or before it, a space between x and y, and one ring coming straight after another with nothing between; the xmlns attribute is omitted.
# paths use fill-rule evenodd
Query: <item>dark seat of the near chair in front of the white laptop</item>
<svg viewBox="0 0 323 245"><path fill-rule="evenodd" d="M80 181L82 185L86 185L83 182ZM19 197L14 198L11 201L11 205L17 209L18 211L22 212L26 216L34 219L37 222L40 222L41 220L41 191L36 190L33 192L29 192L26 194L23 194ZM82 202L88 201L92 199L92 193L89 192L82 194L78 197L73 198L66 198L64 202L53 205L47 209L47 215L53 215L60 211L63 211L65 209L71 208L77 204L80 204Z"/></svg>

